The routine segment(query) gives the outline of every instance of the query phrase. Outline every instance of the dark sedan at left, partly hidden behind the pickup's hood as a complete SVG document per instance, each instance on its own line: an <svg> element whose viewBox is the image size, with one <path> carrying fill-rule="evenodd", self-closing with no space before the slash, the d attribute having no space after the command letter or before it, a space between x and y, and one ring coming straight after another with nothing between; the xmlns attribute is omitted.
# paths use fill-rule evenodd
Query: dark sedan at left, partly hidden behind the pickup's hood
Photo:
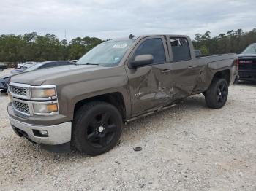
<svg viewBox="0 0 256 191"><path fill-rule="evenodd" d="M0 89L1 93L7 92L7 82L10 79L10 77L20 74L23 72L28 72L28 71L34 71L38 69L47 69L47 68L52 68L56 66L66 66L66 65L72 65L74 63L71 63L69 61L46 61L42 63L36 63L33 66L29 67L29 69L15 69L11 71L11 74L7 74L4 77L0 78Z"/></svg>

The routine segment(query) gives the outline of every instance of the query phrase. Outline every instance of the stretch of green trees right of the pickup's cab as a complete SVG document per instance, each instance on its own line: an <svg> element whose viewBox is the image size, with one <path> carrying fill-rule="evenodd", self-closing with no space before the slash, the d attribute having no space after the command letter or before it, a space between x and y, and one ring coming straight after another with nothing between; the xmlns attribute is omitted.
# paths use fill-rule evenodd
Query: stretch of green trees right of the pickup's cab
<svg viewBox="0 0 256 191"><path fill-rule="evenodd" d="M242 29L227 31L218 36L211 37L211 32L195 34L193 44L202 54L225 54L242 52L249 44L256 42L256 28L244 32Z"/></svg>

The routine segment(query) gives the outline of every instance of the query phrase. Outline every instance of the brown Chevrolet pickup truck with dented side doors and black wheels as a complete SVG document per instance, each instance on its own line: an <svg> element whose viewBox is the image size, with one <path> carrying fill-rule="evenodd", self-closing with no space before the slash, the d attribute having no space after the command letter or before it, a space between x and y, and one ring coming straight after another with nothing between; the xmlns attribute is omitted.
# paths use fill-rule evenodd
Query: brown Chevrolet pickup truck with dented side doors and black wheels
<svg viewBox="0 0 256 191"><path fill-rule="evenodd" d="M189 95L225 105L238 74L236 54L195 58L188 36L129 36L99 44L73 66L10 79L10 124L50 151L100 155L115 147L122 125Z"/></svg>

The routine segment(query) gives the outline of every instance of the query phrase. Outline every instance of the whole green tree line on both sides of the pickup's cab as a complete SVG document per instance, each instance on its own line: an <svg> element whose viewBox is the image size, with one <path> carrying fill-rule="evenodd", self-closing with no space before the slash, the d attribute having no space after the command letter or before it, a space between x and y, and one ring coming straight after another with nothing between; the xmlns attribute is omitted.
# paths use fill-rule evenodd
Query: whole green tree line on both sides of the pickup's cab
<svg viewBox="0 0 256 191"><path fill-rule="evenodd" d="M41 36L36 32L17 35L3 34L0 36L0 61L50 61L79 59L97 44L104 42L95 37L77 37L67 42L60 40L54 34ZM244 32L242 29L227 31L211 37L211 32L195 34L193 44L195 49L204 55L241 52L249 44L256 42L256 28Z"/></svg>

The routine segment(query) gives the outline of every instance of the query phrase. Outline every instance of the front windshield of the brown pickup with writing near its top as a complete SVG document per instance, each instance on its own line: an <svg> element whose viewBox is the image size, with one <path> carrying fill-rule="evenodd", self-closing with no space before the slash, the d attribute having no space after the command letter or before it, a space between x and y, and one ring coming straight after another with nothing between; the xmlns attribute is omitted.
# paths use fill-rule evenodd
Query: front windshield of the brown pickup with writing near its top
<svg viewBox="0 0 256 191"><path fill-rule="evenodd" d="M133 40L104 42L83 55L76 64L118 66L132 42Z"/></svg>

